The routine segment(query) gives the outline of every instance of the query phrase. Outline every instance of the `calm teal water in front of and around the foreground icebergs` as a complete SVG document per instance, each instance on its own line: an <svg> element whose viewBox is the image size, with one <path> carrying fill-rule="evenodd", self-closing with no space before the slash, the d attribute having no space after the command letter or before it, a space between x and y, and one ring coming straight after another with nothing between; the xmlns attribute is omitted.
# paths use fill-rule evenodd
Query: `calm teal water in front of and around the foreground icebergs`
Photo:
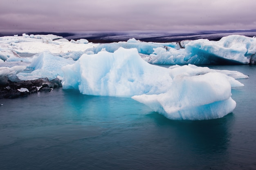
<svg viewBox="0 0 256 170"><path fill-rule="evenodd" d="M130 98L57 89L0 99L0 170L256 169L256 66L233 113L174 121Z"/></svg>

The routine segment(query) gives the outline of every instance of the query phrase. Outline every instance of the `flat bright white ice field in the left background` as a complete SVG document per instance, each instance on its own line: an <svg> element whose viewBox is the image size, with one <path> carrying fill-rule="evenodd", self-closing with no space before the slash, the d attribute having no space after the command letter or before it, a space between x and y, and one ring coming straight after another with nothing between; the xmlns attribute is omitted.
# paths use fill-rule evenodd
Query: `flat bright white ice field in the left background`
<svg viewBox="0 0 256 170"><path fill-rule="evenodd" d="M64 54L74 51L85 51L96 47L99 44L86 43L87 40L81 39L79 43L72 43L56 35L27 35L23 36L4 36L0 37L0 59L7 60L8 57L16 56L14 53L37 54L43 51ZM17 57L17 56L16 56Z"/></svg>

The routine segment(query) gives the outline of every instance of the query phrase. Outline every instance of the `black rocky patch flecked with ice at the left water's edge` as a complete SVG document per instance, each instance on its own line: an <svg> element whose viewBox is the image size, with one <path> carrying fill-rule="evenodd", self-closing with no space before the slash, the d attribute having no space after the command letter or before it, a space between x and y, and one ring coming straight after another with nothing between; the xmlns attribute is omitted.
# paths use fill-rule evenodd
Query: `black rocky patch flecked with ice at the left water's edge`
<svg viewBox="0 0 256 170"><path fill-rule="evenodd" d="M61 80L56 78L49 81L47 78L36 80L11 82L10 80L2 81L0 84L0 99L2 98L17 98L27 96L38 91L51 91L54 88L62 87Z"/></svg>

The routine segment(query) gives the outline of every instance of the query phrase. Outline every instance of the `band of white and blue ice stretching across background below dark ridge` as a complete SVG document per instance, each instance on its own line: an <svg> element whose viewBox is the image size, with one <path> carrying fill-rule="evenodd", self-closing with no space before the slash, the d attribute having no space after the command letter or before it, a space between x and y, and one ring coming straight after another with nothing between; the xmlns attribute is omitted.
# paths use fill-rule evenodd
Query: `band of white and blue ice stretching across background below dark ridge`
<svg viewBox="0 0 256 170"><path fill-rule="evenodd" d="M27 34L1 37L0 60L5 61L17 53L50 51L64 54L82 51L93 54L103 50L114 52L119 47L136 48L139 53L144 54L141 55L144 60L151 64L254 64L256 61L256 38L243 35L229 35L219 41L199 39L157 43L132 38L127 42L94 44L88 43L86 39L69 42L56 35Z"/></svg>

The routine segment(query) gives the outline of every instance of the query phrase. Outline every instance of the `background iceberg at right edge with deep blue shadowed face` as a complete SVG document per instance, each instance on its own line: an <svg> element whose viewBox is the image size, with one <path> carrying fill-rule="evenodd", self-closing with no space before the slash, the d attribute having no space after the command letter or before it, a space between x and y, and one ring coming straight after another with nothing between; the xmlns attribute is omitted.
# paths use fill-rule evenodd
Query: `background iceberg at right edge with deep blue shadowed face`
<svg viewBox="0 0 256 170"><path fill-rule="evenodd" d="M154 48L144 60L152 64L255 64L256 61L256 38L243 35L229 35L219 41L186 41L182 47Z"/></svg>

